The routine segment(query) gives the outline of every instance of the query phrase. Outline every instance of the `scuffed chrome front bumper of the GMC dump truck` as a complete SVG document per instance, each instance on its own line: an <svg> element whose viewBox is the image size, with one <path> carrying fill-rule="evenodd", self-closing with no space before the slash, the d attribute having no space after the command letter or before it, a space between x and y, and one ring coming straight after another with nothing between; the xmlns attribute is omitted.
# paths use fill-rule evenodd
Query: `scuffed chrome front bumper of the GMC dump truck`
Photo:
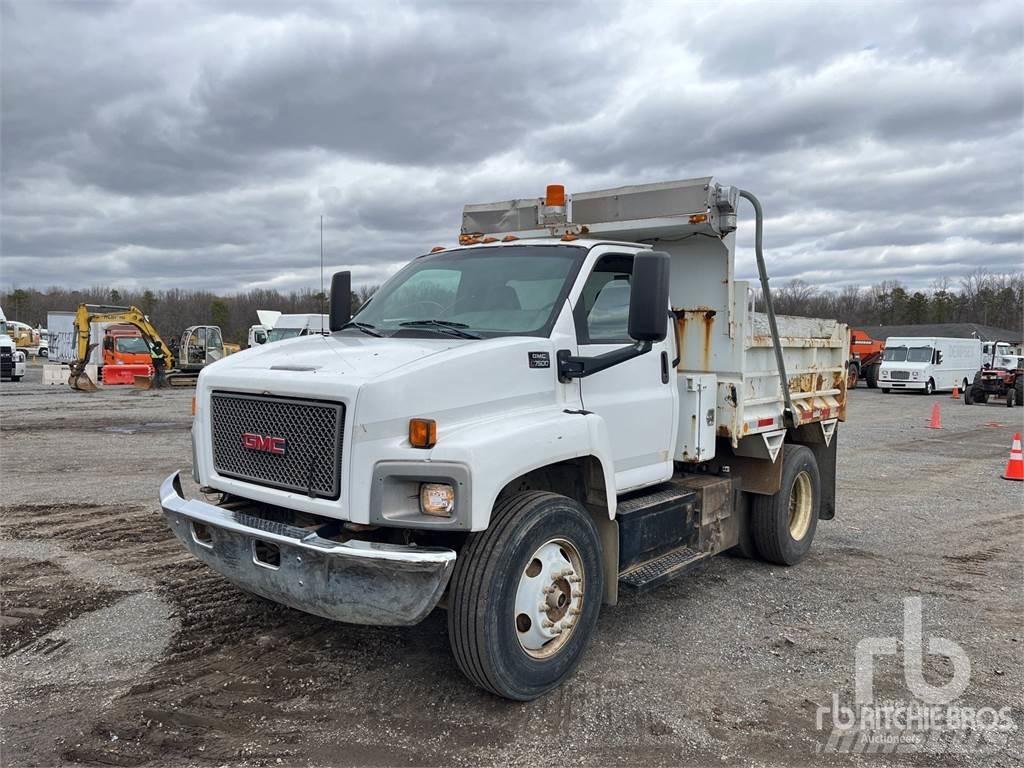
<svg viewBox="0 0 1024 768"><path fill-rule="evenodd" d="M455 567L451 549L339 543L185 499L177 472L160 486L160 506L188 551L234 585L338 622L416 624L437 605ZM257 558L257 543L276 546L276 566Z"/></svg>

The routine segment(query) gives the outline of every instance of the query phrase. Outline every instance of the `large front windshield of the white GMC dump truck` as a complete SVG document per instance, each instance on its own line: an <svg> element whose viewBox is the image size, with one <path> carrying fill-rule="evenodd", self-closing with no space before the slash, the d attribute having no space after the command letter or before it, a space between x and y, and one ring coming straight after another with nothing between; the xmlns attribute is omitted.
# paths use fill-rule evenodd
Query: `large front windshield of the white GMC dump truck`
<svg viewBox="0 0 1024 768"><path fill-rule="evenodd" d="M505 246L423 256L353 318L387 335L547 336L586 255L577 246ZM472 337L470 337L472 338Z"/></svg>

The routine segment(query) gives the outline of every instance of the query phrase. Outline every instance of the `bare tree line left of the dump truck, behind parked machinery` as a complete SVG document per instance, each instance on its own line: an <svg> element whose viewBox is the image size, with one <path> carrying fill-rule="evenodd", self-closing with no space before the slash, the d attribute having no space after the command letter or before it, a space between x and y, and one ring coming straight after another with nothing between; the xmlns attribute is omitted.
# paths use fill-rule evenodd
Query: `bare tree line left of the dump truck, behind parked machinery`
<svg viewBox="0 0 1024 768"><path fill-rule="evenodd" d="M352 291L352 311L358 309L377 290L360 286ZM180 338L189 326L220 326L224 341L245 346L249 327L259 323L257 309L275 309L286 314L329 312L328 296L309 289L282 293L253 290L227 296L210 291L132 291L90 288L70 291L49 288L45 291L14 288L0 293L0 304L8 319L46 327L51 311L75 311L79 304L136 306L148 315L164 341Z"/></svg>

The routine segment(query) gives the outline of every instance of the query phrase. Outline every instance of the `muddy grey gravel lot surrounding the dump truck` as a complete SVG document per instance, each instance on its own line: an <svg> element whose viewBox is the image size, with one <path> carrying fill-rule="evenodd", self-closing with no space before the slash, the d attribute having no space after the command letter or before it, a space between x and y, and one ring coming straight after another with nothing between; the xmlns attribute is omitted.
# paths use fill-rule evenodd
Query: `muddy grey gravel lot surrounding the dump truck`
<svg viewBox="0 0 1024 768"><path fill-rule="evenodd" d="M575 676L530 703L468 683L435 611L333 624L188 556L157 489L190 461L190 390L0 384L0 760L29 765L1002 765L1024 761L1024 483L999 477L1024 409L851 393L839 512L793 568L713 560L602 610ZM927 429L933 403L944 429ZM971 660L961 701L1011 708L996 743L849 754L854 649L903 600ZM948 680L926 655L926 678ZM878 694L911 697L898 656Z"/></svg>

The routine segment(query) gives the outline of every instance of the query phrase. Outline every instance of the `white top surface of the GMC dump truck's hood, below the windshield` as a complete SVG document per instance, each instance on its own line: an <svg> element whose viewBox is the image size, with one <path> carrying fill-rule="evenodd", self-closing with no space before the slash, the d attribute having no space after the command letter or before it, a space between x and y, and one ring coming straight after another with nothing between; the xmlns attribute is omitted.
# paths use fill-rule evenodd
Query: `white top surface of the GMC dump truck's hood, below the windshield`
<svg viewBox="0 0 1024 768"><path fill-rule="evenodd" d="M301 371L354 379L375 379L410 362L465 345L468 339L377 339L348 335L303 336L263 344L237 352L208 370L215 373L243 371ZM479 342L476 342L479 343Z"/></svg>

